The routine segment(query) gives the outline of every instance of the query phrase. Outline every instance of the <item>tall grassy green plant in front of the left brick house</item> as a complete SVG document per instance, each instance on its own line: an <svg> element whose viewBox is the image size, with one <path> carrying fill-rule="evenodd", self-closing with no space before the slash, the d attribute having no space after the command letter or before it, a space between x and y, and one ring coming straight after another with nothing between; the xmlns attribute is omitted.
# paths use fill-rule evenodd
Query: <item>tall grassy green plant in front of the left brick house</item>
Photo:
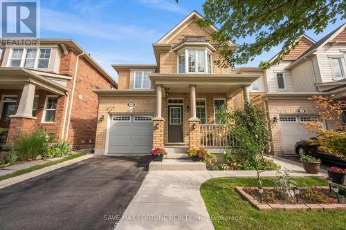
<svg viewBox="0 0 346 230"><path fill-rule="evenodd" d="M35 159L37 155L42 155L47 147L48 138L44 131L22 135L17 140L19 160Z"/></svg>

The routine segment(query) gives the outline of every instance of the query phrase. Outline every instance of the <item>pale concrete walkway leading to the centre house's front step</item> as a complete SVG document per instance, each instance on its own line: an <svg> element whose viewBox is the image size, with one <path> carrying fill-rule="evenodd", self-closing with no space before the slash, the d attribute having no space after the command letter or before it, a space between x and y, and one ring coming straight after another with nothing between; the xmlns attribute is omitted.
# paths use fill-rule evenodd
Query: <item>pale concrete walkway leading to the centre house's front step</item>
<svg viewBox="0 0 346 230"><path fill-rule="evenodd" d="M301 166L275 162L293 176L311 176ZM150 171L115 229L214 229L199 192L201 184L211 178L256 175L255 171ZM264 171L262 176L276 172Z"/></svg>

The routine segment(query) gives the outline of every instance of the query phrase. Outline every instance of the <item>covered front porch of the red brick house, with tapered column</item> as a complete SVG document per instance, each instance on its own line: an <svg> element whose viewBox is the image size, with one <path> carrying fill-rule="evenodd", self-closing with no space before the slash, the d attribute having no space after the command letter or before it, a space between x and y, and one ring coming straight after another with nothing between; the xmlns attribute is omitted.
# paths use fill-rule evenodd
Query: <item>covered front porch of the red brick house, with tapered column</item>
<svg viewBox="0 0 346 230"><path fill-rule="evenodd" d="M69 90L55 82L53 74L42 74L51 75L51 79L36 70L0 68L0 127L7 130L0 145L40 127L52 135L60 134L63 111L59 108Z"/></svg>

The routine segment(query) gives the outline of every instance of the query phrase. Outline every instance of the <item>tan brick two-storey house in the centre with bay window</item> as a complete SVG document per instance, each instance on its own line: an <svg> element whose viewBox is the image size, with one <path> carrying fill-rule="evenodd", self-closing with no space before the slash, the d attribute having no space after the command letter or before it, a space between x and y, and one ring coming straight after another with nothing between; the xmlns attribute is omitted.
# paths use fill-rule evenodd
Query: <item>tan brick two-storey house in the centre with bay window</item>
<svg viewBox="0 0 346 230"><path fill-rule="evenodd" d="M233 109L233 97L258 73L219 68L217 43L200 28L192 12L153 44L156 64L116 64L118 90L93 90L99 96L95 153L149 153L153 147L228 146L229 135L215 116L221 106ZM229 48L237 48L229 42ZM247 97L248 99L248 97Z"/></svg>

